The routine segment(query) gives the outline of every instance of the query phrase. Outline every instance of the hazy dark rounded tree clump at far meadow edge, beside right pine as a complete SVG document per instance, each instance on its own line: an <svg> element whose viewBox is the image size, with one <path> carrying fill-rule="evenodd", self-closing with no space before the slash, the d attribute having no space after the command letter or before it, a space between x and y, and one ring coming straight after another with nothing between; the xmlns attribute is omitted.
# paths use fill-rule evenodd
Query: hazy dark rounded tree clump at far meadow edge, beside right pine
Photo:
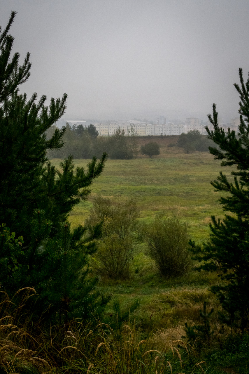
<svg viewBox="0 0 249 374"><path fill-rule="evenodd" d="M206 136L200 134L199 130L188 131L187 134L182 133L177 141L177 146L184 148L186 153L206 152L212 144Z"/></svg>

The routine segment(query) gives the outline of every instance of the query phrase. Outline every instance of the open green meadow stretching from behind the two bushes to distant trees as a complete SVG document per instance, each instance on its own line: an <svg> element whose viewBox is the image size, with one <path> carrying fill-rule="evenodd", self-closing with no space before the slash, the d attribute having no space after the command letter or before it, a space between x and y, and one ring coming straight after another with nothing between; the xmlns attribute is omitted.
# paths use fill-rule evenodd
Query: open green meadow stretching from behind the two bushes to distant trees
<svg viewBox="0 0 249 374"><path fill-rule="evenodd" d="M59 167L61 160L53 159ZM75 160L75 166L86 166L89 160ZM224 169L224 168L223 168ZM72 226L84 224L97 193L114 201L134 198L141 211L141 220L148 221L158 212L174 212L189 225L190 236L206 240L210 216L223 216L210 181L221 171L220 162L207 152L185 154L179 148L161 148L161 154L150 159L107 160L103 174L91 186L92 193L74 208ZM224 169L230 174L229 168Z"/></svg>

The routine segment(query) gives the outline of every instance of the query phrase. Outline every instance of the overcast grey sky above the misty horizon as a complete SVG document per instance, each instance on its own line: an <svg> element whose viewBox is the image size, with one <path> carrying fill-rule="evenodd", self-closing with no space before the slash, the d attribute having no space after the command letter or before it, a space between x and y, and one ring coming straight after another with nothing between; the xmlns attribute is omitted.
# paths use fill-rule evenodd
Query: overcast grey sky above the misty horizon
<svg viewBox="0 0 249 374"><path fill-rule="evenodd" d="M238 116L248 0L0 0L2 27L11 10L13 50L31 53L21 91L68 93L67 119Z"/></svg>

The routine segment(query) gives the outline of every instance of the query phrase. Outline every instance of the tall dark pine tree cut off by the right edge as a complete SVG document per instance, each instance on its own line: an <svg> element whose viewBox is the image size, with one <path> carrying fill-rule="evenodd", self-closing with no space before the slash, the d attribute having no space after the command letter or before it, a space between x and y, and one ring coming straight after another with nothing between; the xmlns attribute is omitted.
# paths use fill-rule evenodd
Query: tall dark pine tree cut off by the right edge
<svg viewBox="0 0 249 374"><path fill-rule="evenodd" d="M228 193L220 197L225 212L223 221L212 216L210 239L202 246L191 242L194 258L204 261L199 266L204 270L217 270L226 282L213 286L212 291L227 313L223 319L227 324L245 328L249 310L249 78L243 79L242 68L239 69L240 86L234 84L240 95L239 132L224 131L218 124L216 105L213 104L213 115L208 115L213 125L208 138L218 145L210 147L210 153L221 166L234 166L231 172L233 181L223 172L212 181L216 191Z"/></svg>

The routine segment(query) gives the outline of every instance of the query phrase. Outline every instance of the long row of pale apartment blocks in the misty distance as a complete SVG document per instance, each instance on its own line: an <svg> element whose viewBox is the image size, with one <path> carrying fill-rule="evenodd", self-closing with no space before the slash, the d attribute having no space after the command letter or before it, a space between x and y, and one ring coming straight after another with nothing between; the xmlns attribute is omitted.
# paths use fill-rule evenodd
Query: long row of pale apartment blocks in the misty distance
<svg viewBox="0 0 249 374"><path fill-rule="evenodd" d="M140 121L128 121L125 123L110 122L110 123L93 123L96 127L99 135L107 136L115 134L118 128L124 129L125 134L128 134L133 129L133 132L137 135L181 135L183 132L187 133L188 131L198 130L201 134L206 134L205 125L199 123L199 119L195 117L186 118L185 123L183 124L174 124L174 123L165 123L166 120L156 121L156 124L145 123ZM85 125L85 121L68 121L70 125L81 124ZM161 123L160 123L161 122ZM234 118L231 120L231 123L224 124L220 126L227 131L228 127L237 131L239 126L240 119ZM209 128L212 128L211 125L208 125Z"/></svg>

